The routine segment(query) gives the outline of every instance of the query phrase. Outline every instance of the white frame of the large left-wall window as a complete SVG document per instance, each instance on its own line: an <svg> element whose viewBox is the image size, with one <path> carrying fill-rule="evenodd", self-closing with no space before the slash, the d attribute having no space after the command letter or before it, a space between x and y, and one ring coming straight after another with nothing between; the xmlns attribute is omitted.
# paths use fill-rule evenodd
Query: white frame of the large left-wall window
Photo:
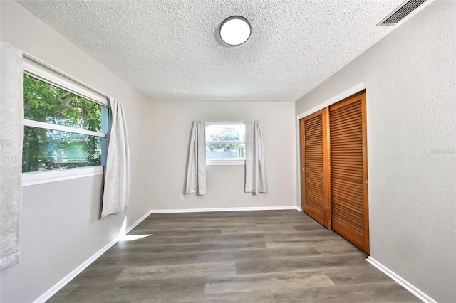
<svg viewBox="0 0 456 303"><path fill-rule="evenodd" d="M23 119L24 127L35 127L38 129L51 129L62 132L71 132L75 134L86 134L94 137L106 138L108 133L108 119L110 112L110 105L108 102L108 96L95 90L93 87L86 85L85 83L77 80L76 78L63 73L61 70L53 68L51 65L43 63L41 60L33 58L30 55L24 54L23 73L33 78L41 80L50 85L54 85L63 90L71 92L75 95L81 96L102 105L106 108L103 110L102 107L102 132L93 132L86 129L76 129L72 127L66 127L58 124L50 124L46 122L38 122L30 119ZM106 159L106 142L103 140L101 147L101 161L102 165L98 166L85 166L73 169L55 169L55 170L43 170L43 171L29 171L22 173L22 186L31 186L36 184L45 184L49 182L63 181L68 179L78 179L87 176L97 176L103 174L103 165Z"/></svg>

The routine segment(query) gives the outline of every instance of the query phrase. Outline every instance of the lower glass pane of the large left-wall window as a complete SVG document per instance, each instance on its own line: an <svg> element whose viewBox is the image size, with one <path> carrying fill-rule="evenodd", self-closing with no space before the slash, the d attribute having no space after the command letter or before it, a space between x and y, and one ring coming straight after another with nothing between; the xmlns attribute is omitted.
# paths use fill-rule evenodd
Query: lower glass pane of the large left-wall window
<svg viewBox="0 0 456 303"><path fill-rule="evenodd" d="M105 138L24 127L22 172L101 165Z"/></svg>

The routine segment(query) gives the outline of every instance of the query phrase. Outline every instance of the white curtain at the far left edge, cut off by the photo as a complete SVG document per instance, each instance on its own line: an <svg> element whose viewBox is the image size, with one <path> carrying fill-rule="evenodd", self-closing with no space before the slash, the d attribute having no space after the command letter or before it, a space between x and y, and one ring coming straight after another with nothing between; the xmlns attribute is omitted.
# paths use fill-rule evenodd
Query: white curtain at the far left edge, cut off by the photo
<svg viewBox="0 0 456 303"><path fill-rule="evenodd" d="M0 270L19 262L22 208L22 52L0 42Z"/></svg>

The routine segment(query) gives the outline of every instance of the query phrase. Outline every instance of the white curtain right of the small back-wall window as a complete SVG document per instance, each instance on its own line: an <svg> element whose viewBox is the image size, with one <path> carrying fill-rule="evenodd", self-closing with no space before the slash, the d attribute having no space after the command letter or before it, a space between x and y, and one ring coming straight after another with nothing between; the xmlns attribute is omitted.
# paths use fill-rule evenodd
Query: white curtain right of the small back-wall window
<svg viewBox="0 0 456 303"><path fill-rule="evenodd" d="M245 122L245 192L267 193L263 138L259 121Z"/></svg>

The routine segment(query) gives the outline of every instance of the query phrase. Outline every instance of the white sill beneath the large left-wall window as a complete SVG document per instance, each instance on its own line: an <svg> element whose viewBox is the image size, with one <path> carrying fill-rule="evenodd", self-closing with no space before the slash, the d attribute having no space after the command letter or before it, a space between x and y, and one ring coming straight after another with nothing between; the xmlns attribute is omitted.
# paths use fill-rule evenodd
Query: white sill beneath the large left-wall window
<svg viewBox="0 0 456 303"><path fill-rule="evenodd" d="M90 166L78 169L56 169L53 171L33 171L31 173L22 174L22 186L45 184L102 174L103 166Z"/></svg>

